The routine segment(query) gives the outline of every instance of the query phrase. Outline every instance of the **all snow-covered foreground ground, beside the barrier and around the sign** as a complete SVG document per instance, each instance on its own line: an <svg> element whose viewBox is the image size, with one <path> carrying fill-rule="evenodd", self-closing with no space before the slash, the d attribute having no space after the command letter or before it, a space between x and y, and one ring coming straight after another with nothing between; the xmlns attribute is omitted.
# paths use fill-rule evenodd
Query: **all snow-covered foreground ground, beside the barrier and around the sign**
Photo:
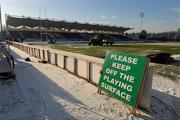
<svg viewBox="0 0 180 120"><path fill-rule="evenodd" d="M87 81L11 47L16 80L0 82L0 120L179 120L180 84L154 75L151 109L129 107ZM31 62L24 61L30 57Z"/></svg>

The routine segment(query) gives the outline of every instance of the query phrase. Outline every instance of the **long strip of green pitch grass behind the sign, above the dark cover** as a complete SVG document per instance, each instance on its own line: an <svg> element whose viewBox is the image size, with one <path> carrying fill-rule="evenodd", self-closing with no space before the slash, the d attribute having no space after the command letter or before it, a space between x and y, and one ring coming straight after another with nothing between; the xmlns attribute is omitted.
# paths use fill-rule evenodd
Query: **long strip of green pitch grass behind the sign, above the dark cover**
<svg viewBox="0 0 180 120"><path fill-rule="evenodd" d="M99 57L99 58L104 58L108 50L137 54L137 55L147 55L158 52L168 52L171 54L180 53L180 46L168 46L168 45L123 44L123 45L113 45L113 46L83 46L83 45L53 44L53 45L45 45L45 46L53 49L80 53L80 54Z"/></svg>

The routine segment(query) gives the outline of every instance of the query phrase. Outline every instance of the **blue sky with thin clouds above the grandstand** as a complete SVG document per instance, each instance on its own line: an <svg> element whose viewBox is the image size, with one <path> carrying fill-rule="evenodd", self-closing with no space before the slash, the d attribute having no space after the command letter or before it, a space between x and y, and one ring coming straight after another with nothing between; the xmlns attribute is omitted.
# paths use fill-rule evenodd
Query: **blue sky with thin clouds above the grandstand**
<svg viewBox="0 0 180 120"><path fill-rule="evenodd" d="M2 18L6 14L47 17L59 20L99 23L148 32L180 28L180 0L0 0ZM40 12L41 11L41 12ZM129 32L132 32L129 31Z"/></svg>

